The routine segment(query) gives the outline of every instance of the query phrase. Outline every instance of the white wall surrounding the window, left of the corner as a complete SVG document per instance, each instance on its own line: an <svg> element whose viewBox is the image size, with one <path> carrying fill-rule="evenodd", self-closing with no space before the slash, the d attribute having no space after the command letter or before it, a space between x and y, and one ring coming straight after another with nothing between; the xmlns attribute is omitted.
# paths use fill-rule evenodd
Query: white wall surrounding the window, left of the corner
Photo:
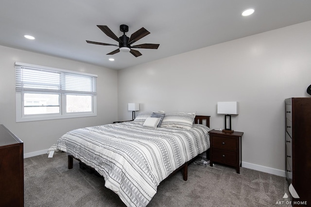
<svg viewBox="0 0 311 207"><path fill-rule="evenodd" d="M15 67L22 62L97 74L97 116L16 122ZM118 116L117 71L81 62L0 46L0 124L24 142L24 154L42 154L69 130L112 123Z"/></svg>

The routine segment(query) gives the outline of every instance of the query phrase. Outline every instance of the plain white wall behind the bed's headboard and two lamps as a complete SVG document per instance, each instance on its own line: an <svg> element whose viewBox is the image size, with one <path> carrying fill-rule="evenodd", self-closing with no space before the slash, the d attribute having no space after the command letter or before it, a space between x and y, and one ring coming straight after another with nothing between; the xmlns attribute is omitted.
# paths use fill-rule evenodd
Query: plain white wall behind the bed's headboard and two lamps
<svg viewBox="0 0 311 207"><path fill-rule="evenodd" d="M217 102L238 101L243 166L284 175L284 99L310 97L310 36L308 21L119 70L119 120L137 102L140 111L197 111L224 128Z"/></svg>

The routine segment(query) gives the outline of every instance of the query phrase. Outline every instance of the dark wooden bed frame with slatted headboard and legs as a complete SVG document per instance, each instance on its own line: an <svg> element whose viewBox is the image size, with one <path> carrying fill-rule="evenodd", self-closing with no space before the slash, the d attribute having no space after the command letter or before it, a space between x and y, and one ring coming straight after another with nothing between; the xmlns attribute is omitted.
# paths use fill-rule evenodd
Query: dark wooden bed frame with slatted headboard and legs
<svg viewBox="0 0 311 207"><path fill-rule="evenodd" d="M194 118L194 122L193 123L198 123L198 124L203 124L203 121L206 121L206 126L209 127L209 118L210 116L195 116ZM207 153L207 157L208 157L208 151L209 149L207 149L206 153ZM177 173L178 171L182 170L183 173L183 179L184 181L188 180L188 165L190 163L192 163L198 156L194 157L193 159L191 159L190 161L184 163L182 166L180 166L179 168L177 168L175 171L173 171L173 173L171 173L167 178L171 177L173 174ZM68 169L72 169L73 168L73 158L75 158L72 155L68 155ZM78 160L80 163L80 168L81 169L86 169L87 172L89 173L93 173L96 172L93 168L87 166L86 164L84 164L80 159L75 158L76 160ZM96 172L97 173L97 172ZM164 180L166 180L167 178L165 178Z"/></svg>

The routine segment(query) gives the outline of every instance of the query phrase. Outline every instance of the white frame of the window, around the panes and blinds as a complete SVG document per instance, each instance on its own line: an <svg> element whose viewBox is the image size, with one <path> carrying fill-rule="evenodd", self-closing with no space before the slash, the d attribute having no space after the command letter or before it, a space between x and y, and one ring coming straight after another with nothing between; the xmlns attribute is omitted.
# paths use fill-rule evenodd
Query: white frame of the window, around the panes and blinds
<svg viewBox="0 0 311 207"><path fill-rule="evenodd" d="M92 76L97 78L97 75L84 73L84 72L77 72L72 70L64 70L64 69L55 69L50 67L44 67L44 66L37 66L32 64L26 64L26 63L15 63L15 66L19 67L26 67L26 68L34 68L34 69L47 69L55 72L64 72L64 73L70 73L73 75L85 75L85 76ZM95 83L97 84L97 83ZM96 86L95 86L96 87ZM34 114L34 115L25 115L24 114L24 93L35 93L35 94L59 94L59 104L60 104L60 110L59 113L50 113L50 114ZM87 95L91 96L91 111L90 112L69 112L67 113L67 104L66 104L66 95ZM92 117L97 116L97 93L96 88L95 92L86 92L86 91L62 91L57 90L55 92L42 92L38 91L37 89L31 90L28 88L28 90L25 91L17 91L16 89L16 122L22 122L22 121L42 121L42 120L54 120L54 119L68 119L68 118L79 118L79 117Z"/></svg>

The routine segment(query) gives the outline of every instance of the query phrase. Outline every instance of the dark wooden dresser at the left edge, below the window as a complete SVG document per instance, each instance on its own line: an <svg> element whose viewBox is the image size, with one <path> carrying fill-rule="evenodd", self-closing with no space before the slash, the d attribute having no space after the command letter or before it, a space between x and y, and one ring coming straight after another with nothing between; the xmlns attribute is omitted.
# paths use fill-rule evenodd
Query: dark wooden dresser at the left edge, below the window
<svg viewBox="0 0 311 207"><path fill-rule="evenodd" d="M24 206L23 142L0 124L0 207Z"/></svg>

